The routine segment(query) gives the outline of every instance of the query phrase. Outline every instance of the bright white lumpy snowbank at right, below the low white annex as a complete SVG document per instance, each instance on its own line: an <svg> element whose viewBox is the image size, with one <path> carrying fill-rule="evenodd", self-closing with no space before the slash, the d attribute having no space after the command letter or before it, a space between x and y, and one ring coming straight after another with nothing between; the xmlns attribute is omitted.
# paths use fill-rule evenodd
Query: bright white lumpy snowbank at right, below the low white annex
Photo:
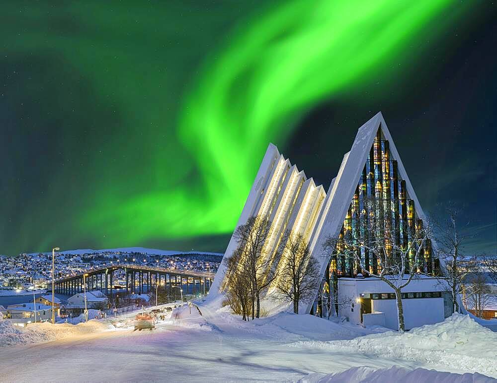
<svg viewBox="0 0 497 383"><path fill-rule="evenodd" d="M497 377L497 333L457 313L443 322L403 334L388 331L351 340L296 342L292 346L419 361Z"/></svg>

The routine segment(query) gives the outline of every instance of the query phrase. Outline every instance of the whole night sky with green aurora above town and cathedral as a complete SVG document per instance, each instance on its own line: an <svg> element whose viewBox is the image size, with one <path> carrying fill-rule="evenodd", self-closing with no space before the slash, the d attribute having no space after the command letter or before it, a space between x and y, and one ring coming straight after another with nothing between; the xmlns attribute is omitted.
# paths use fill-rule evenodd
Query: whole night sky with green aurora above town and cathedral
<svg viewBox="0 0 497 383"><path fill-rule="evenodd" d="M327 190L378 111L423 210L497 253L495 3L1 9L0 254L224 252L269 142Z"/></svg>

